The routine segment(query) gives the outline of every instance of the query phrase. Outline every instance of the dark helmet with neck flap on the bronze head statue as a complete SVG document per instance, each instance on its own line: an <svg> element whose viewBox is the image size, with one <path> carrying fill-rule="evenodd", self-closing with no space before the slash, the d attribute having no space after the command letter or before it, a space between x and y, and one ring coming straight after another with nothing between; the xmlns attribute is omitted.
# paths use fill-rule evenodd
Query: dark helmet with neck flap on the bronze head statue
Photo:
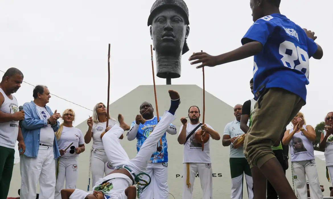
<svg viewBox="0 0 333 199"><path fill-rule="evenodd" d="M156 11L159 9L163 9L163 7L166 7L166 6L174 6L174 7L178 8L178 10L181 11L184 16L185 24L189 25L188 8L187 8L186 3L183 0L156 0L150 10L150 15L148 17L148 26L152 25L153 18L156 14ZM185 54L187 51L189 51L189 49L188 49L186 39L185 39L183 50L182 50L182 55Z"/></svg>

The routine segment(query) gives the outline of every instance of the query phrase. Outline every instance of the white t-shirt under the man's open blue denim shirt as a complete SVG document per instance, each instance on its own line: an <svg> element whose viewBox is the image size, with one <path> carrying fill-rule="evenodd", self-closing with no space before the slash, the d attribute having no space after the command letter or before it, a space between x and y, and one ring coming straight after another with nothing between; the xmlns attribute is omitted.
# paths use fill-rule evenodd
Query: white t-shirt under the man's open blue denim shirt
<svg viewBox="0 0 333 199"><path fill-rule="evenodd" d="M50 113L46 110L45 107L40 107L36 105L36 110L38 112L40 119L48 119L51 117ZM40 137L39 137L39 143L53 146L54 142L54 131L51 127L51 124L48 124L47 126L41 128Z"/></svg>

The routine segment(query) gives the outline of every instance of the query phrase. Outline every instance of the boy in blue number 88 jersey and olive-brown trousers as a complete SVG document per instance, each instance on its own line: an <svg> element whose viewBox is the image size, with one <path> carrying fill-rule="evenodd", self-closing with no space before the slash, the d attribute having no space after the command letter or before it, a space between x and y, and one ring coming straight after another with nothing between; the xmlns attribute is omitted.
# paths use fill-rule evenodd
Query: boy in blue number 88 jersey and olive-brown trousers
<svg viewBox="0 0 333 199"><path fill-rule="evenodd" d="M257 99L244 154L253 177L254 198L266 198L266 178L280 198L296 196L271 146L306 101L309 58L321 59L323 50L314 32L290 21L279 11L280 0L250 0L254 23L240 48L218 56L194 53L196 68L216 66L254 56L253 91Z"/></svg>

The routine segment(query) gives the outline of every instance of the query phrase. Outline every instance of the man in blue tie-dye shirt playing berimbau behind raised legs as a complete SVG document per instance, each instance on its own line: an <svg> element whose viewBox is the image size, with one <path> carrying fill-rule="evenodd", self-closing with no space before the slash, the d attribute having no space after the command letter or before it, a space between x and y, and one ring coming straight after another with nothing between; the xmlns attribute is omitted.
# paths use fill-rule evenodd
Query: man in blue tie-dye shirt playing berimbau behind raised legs
<svg viewBox="0 0 333 199"><path fill-rule="evenodd" d="M149 102L143 102L140 105L140 114L137 115L135 121L131 124L131 129L127 132L127 139L134 140L137 138L137 150L139 151L144 141L153 131L153 128L157 125L158 119L154 115L154 108ZM161 117L159 118L159 120ZM176 127L172 124L166 129L171 135L177 133ZM151 177L151 183L142 192L142 198L168 198L168 186L167 186L167 142L166 133L162 136L160 141L156 143L156 152L152 154L150 163L148 164L146 173ZM145 179L147 180L147 179Z"/></svg>

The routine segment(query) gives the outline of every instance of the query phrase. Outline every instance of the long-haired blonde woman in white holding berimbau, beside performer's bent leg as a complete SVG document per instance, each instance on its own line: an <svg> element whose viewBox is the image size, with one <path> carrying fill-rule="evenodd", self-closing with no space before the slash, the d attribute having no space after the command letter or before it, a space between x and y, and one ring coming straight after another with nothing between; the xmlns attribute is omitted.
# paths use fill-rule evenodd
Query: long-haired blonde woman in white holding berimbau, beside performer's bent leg
<svg viewBox="0 0 333 199"><path fill-rule="evenodd" d="M101 134L105 133L107 121L107 109L104 103L97 103L93 109L93 116L87 121L88 130L84 136L84 141L88 144L93 139L93 146L90 149L90 166L89 166L89 180L88 191L90 184L95 185L96 182L114 170L111 165L103 146ZM118 124L117 120L110 117L108 127L112 128ZM123 139L123 135L119 139ZM92 175L92 183L90 183L90 171Z"/></svg>

